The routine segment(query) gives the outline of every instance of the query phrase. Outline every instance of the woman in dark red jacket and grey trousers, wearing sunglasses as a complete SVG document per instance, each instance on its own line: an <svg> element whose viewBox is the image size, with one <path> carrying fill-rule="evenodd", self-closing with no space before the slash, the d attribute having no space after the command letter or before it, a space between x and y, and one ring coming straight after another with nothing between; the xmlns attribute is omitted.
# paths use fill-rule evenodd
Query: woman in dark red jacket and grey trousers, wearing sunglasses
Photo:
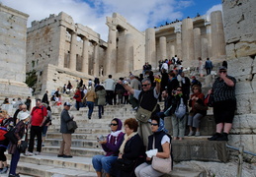
<svg viewBox="0 0 256 177"><path fill-rule="evenodd" d="M201 87L194 85L192 87L192 92L189 100L189 106L192 107L190 115L188 117L188 126L190 128L190 133L188 136L193 136L193 127L196 128L195 136L200 136L200 120L207 115L207 106L204 103L205 95L201 92ZM199 104L200 106L195 106Z"/></svg>

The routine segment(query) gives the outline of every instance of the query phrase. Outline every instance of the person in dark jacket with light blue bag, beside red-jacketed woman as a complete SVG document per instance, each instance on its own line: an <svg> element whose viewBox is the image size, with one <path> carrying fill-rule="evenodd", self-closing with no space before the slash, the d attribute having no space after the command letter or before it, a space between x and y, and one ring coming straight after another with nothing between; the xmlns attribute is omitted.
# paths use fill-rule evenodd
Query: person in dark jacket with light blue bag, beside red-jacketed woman
<svg viewBox="0 0 256 177"><path fill-rule="evenodd" d="M172 94L171 98L171 119L173 127L173 140L183 140L187 119L187 102L186 95L183 94L182 88L178 87Z"/></svg>

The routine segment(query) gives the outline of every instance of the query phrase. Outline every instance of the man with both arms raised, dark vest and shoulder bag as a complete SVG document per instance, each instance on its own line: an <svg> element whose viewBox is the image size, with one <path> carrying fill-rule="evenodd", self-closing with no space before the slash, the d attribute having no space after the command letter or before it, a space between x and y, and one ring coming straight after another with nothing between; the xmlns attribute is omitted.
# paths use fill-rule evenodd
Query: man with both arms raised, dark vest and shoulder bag
<svg viewBox="0 0 256 177"><path fill-rule="evenodd" d="M151 88L152 83L149 79L142 80L142 90L132 89L120 82L138 100L138 109L135 117L139 121L138 134L143 140L144 147L147 146L147 138L152 133L148 120L152 114L156 113L157 99L161 88L161 80L158 75L154 76L154 82L156 86Z"/></svg>

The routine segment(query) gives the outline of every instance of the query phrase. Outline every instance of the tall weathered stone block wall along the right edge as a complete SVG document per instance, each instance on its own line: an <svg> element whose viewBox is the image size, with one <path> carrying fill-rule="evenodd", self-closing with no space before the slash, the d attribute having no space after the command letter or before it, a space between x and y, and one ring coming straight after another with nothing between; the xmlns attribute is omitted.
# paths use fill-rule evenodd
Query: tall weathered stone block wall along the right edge
<svg viewBox="0 0 256 177"><path fill-rule="evenodd" d="M256 3L223 0L228 74L237 80L237 115L228 144L256 152Z"/></svg>

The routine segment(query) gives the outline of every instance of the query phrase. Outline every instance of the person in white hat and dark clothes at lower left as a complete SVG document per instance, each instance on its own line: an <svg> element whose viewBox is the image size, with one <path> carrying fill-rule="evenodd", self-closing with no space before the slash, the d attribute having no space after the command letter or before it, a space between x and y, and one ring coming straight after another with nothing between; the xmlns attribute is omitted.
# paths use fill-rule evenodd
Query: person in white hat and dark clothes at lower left
<svg viewBox="0 0 256 177"><path fill-rule="evenodd" d="M27 112L22 112L20 115L20 122L15 127L14 135L17 138L18 142L16 144L10 143L10 148L8 152L12 154L12 159L10 163L10 172L9 177L18 177L19 174L16 174L16 168L18 161L20 159L20 150L19 146L22 144L22 140L26 133L26 123L30 120L30 114Z"/></svg>

